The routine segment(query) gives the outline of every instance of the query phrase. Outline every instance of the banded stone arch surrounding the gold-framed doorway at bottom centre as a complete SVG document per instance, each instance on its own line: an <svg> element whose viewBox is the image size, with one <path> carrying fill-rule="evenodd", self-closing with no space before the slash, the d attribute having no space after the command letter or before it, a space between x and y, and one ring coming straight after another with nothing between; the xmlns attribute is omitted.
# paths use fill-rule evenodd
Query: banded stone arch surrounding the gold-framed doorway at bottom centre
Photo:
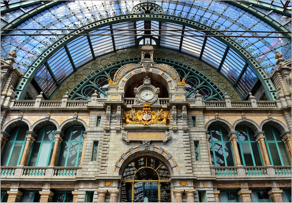
<svg viewBox="0 0 292 203"><path fill-rule="evenodd" d="M168 167L170 175L180 175L179 166L172 155L170 155L167 150L157 145L149 145L149 151L144 150L144 145L136 145L128 149L116 162L113 168L113 175L121 175L130 161L143 155L153 155L154 157L157 157Z"/></svg>

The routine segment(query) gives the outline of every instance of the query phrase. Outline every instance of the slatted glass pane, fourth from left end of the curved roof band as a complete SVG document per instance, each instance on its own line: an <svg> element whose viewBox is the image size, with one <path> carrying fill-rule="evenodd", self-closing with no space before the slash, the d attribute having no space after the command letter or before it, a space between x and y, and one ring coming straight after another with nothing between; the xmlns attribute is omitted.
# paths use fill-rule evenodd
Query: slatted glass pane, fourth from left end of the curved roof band
<svg viewBox="0 0 292 203"><path fill-rule="evenodd" d="M102 27L101 29L110 29L110 26ZM89 32L89 34L110 34L109 30L97 30ZM93 47L95 56L113 51L113 41L111 36L90 36L90 41Z"/></svg>

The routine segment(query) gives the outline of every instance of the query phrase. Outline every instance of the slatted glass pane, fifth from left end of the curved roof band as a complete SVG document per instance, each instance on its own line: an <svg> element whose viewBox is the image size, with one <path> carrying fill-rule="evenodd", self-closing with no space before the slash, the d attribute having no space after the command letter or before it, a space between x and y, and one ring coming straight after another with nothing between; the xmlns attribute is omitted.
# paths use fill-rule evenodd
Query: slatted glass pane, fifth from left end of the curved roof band
<svg viewBox="0 0 292 203"><path fill-rule="evenodd" d="M134 22L123 22L113 25L113 29L134 29ZM135 46L135 37L129 36L129 34L135 34L134 31L127 30L114 30L113 34L125 34L122 35L114 35L115 40L115 48L121 49L129 46Z"/></svg>

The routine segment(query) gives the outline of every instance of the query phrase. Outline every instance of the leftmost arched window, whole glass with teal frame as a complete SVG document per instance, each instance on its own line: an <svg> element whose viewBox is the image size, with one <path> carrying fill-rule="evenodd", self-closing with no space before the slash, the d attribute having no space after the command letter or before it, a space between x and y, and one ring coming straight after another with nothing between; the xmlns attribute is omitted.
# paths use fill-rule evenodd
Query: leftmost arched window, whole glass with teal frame
<svg viewBox="0 0 292 203"><path fill-rule="evenodd" d="M26 141L27 125L20 125L10 131L10 137L5 144L1 156L1 166L18 166Z"/></svg>

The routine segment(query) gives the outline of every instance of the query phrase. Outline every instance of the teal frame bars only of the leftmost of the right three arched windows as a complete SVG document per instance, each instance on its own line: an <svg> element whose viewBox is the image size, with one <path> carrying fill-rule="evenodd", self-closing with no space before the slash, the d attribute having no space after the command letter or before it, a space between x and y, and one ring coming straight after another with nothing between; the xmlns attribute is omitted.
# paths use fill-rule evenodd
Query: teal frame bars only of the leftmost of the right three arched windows
<svg viewBox="0 0 292 203"><path fill-rule="evenodd" d="M213 140L213 135L212 135L212 127L219 127L220 128L220 136L221 136L221 140L220 141L214 141ZM223 134L222 134L222 126L218 126L218 125L213 125L213 126L210 126L208 128L209 130L209 133L210 133L210 140L209 140L209 145L210 143L212 144L212 151L210 149L210 153L212 153L211 155L213 155L213 158L214 158L214 166L217 166L217 160L216 160L216 153L215 153L215 147L214 147L214 144L216 143L220 143L222 146L224 146L224 144L228 143L230 145L230 149L231 149L231 155L232 155L232 160L233 160L233 166L234 166L234 155L233 155L233 149L232 149L232 145L230 143L230 141L224 141L223 140ZM224 156L224 163L225 163L225 166L227 166L227 159L226 159L226 151L225 151L225 148L222 148L222 151L223 151L223 156ZM218 165L220 166L220 165Z"/></svg>

